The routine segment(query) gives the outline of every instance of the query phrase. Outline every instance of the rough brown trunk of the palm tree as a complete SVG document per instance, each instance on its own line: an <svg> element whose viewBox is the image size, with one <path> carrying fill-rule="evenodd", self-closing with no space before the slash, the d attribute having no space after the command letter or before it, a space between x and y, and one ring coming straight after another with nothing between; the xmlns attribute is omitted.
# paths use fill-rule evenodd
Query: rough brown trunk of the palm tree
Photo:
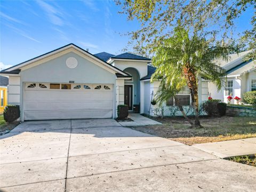
<svg viewBox="0 0 256 192"><path fill-rule="evenodd" d="M199 102L198 102L198 89L197 89L197 77L195 70L188 66L183 68L185 78L187 79L188 88L190 90L192 105L195 109L195 124L194 127L203 127L199 121Z"/></svg>

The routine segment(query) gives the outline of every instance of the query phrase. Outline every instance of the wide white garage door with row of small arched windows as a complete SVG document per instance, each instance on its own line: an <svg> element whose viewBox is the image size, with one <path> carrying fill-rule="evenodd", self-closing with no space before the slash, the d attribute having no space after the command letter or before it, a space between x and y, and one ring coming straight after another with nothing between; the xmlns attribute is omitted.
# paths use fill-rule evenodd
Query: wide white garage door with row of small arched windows
<svg viewBox="0 0 256 192"><path fill-rule="evenodd" d="M111 118L113 85L25 83L24 118Z"/></svg>

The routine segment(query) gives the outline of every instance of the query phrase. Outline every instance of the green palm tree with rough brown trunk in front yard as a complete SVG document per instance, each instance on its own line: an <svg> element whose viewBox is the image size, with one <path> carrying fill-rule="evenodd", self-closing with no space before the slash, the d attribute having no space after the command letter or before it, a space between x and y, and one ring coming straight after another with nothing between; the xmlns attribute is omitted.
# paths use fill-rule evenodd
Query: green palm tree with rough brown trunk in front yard
<svg viewBox="0 0 256 192"><path fill-rule="evenodd" d="M157 99L163 102L166 95L175 95L188 86L195 109L193 126L202 127L199 122L198 78L201 76L211 80L220 90L226 71L216 65L214 60L228 60L229 50L230 47L210 47L205 38L197 35L189 37L188 30L175 28L172 37L163 39L162 45L154 48L152 65L157 69L151 81L159 77L162 79Z"/></svg>

